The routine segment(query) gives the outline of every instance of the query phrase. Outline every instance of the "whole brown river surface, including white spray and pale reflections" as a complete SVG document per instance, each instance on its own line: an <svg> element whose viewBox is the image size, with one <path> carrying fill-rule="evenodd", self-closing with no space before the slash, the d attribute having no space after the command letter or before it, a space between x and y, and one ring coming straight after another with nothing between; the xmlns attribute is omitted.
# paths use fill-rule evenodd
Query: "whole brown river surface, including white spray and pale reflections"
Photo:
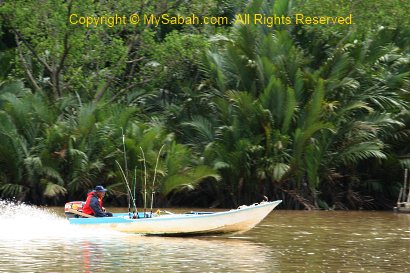
<svg viewBox="0 0 410 273"><path fill-rule="evenodd" d="M0 201L0 272L410 272L410 214L274 210L241 235L168 238Z"/></svg>

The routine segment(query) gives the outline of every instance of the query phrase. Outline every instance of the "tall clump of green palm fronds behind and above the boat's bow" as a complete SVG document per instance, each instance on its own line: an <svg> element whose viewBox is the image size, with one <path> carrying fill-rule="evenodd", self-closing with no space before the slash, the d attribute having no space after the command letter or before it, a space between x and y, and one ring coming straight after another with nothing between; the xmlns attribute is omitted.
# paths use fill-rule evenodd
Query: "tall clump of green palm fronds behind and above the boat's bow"
<svg viewBox="0 0 410 273"><path fill-rule="evenodd" d="M262 6L256 1L250 10ZM285 7L271 12L292 12ZM322 187L349 177L347 170L365 160L386 159L380 132L403 126L395 114L407 109L400 92L408 86L409 55L391 44L388 30L326 46L318 57L300 40L302 33L310 30L293 35L281 26L237 26L225 50L208 53L210 90L219 91L210 92L224 97L215 98L216 138L205 155L221 166L223 181L239 200L272 182L302 191L307 180L311 193L303 200L317 206Z"/></svg>

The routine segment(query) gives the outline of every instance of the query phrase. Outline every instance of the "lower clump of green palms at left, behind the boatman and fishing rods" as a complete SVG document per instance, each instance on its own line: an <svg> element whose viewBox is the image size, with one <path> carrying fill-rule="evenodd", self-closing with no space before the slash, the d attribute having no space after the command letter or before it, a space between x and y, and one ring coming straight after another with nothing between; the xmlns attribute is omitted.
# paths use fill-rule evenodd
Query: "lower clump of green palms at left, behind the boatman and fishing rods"
<svg viewBox="0 0 410 273"><path fill-rule="evenodd" d="M76 100L50 105L46 96L27 92L19 82L5 84L0 94L2 197L34 203L57 201L67 194L80 199L96 184L115 184L121 176L113 172L113 162L124 163L121 128L132 166L139 167L139 147L145 151L148 179L153 178L159 146L168 143L157 178L163 197L203 179L219 178L212 169L195 164L188 148L176 144L161 123L139 123L134 109ZM124 192L123 187L112 189L114 196Z"/></svg>

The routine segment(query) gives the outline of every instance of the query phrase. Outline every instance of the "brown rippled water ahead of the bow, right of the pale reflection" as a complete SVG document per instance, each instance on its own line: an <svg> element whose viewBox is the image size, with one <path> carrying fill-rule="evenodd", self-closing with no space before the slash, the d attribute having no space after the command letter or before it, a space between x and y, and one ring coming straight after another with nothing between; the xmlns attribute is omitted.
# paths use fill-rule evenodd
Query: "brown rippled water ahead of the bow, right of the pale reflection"
<svg viewBox="0 0 410 273"><path fill-rule="evenodd" d="M410 272L409 214L276 211L248 235L284 272Z"/></svg>

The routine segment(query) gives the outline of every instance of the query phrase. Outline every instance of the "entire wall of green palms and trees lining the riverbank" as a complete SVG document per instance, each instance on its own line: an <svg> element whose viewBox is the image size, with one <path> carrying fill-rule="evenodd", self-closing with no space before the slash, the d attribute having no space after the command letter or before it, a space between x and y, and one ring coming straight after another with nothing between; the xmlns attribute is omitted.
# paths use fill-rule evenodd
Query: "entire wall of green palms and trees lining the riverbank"
<svg viewBox="0 0 410 273"><path fill-rule="evenodd" d="M118 162L159 206L267 196L286 208L389 208L410 165L408 8L0 1L0 196L61 204L102 184L124 205ZM86 28L73 13L351 13L354 24Z"/></svg>

